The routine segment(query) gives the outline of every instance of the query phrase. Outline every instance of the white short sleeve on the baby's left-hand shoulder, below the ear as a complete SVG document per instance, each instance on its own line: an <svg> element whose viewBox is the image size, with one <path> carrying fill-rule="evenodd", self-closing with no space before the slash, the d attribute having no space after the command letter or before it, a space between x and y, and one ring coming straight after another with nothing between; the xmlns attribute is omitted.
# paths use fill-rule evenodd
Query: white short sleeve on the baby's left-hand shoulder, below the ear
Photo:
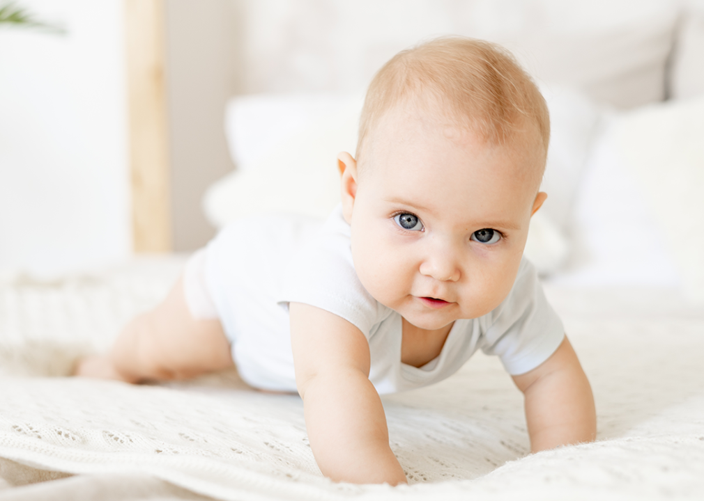
<svg viewBox="0 0 704 501"><path fill-rule="evenodd" d="M279 304L310 304L344 318L370 338L372 327L391 313L357 277L350 227L337 207L313 238L302 242L279 289ZM389 310L389 311L387 311Z"/></svg>

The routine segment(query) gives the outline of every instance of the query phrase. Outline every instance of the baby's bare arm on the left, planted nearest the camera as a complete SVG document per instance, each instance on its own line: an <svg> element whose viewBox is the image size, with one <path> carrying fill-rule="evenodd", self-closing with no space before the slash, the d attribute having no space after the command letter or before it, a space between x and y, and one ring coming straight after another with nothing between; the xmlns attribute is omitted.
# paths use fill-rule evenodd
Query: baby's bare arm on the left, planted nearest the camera
<svg viewBox="0 0 704 501"><path fill-rule="evenodd" d="M334 481L406 483L389 447L379 394L369 380L369 344L337 315L291 303L291 347L310 448Z"/></svg>

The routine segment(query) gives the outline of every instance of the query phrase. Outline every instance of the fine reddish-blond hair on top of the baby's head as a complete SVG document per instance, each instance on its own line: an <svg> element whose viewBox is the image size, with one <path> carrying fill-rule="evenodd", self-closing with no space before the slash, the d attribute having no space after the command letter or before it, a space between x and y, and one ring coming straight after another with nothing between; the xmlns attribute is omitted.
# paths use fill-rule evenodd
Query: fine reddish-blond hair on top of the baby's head
<svg viewBox="0 0 704 501"><path fill-rule="evenodd" d="M547 105L513 56L487 41L444 37L401 51L372 79L360 117L358 162L386 112L428 94L449 118L492 144L506 143L532 123L547 152Z"/></svg>

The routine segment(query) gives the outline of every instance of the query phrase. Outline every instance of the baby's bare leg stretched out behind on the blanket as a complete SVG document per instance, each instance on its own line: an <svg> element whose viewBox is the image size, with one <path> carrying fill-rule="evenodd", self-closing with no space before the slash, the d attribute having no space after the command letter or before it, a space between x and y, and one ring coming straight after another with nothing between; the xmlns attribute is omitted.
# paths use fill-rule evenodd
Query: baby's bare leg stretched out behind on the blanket
<svg viewBox="0 0 704 501"><path fill-rule="evenodd" d="M80 360L75 375L141 382L187 379L230 367L220 320L196 319L180 278L166 299L125 327L107 355Z"/></svg>

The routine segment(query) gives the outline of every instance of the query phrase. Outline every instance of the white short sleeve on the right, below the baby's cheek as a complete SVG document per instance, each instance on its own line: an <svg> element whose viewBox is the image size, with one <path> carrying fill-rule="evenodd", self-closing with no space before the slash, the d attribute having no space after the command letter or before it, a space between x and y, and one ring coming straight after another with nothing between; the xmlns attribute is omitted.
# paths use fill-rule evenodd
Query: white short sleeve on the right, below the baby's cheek
<svg viewBox="0 0 704 501"><path fill-rule="evenodd" d="M508 297L486 317L482 351L501 358L510 375L538 367L565 338L562 321L548 304L536 270L526 258Z"/></svg>

